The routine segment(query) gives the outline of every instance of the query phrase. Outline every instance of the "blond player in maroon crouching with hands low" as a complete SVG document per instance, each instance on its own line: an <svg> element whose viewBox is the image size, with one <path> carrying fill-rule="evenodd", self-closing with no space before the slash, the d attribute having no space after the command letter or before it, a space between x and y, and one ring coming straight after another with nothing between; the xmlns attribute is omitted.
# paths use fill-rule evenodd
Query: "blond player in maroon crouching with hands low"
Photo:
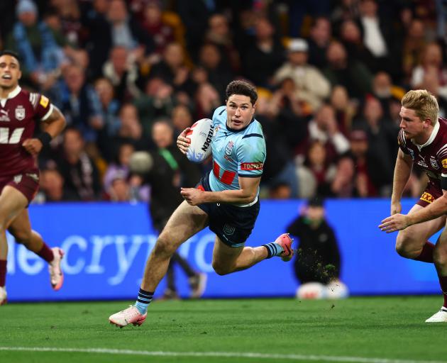
<svg viewBox="0 0 447 363"><path fill-rule="evenodd" d="M387 233L400 230L396 250L402 257L434 263L444 303L426 323L447 323L447 232L436 245L427 238L446 225L447 120L438 118L436 98L426 90L409 91L400 110L399 154L394 167L391 216L379 225ZM421 199L407 215L400 214L400 199L413 164L424 169L429 182Z"/></svg>

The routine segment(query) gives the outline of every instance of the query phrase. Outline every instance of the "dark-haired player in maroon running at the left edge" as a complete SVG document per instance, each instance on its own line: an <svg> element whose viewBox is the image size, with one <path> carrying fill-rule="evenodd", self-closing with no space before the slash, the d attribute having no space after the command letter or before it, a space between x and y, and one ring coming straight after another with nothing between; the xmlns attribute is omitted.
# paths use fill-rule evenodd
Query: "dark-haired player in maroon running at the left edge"
<svg viewBox="0 0 447 363"><path fill-rule="evenodd" d="M18 85L21 78L18 55L0 53L0 305L6 303L6 230L45 259L49 265L53 289L62 287L58 247L50 248L31 229L28 204L39 187L37 155L65 127L62 113L45 96L24 91ZM36 127L43 132L33 137Z"/></svg>

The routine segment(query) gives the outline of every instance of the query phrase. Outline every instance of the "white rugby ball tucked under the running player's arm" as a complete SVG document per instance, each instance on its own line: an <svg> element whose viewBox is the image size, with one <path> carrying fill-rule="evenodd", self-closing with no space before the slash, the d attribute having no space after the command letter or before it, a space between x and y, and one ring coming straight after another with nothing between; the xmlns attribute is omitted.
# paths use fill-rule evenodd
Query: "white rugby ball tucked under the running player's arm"
<svg viewBox="0 0 447 363"><path fill-rule="evenodd" d="M189 161L203 162L211 155L213 134L213 121L209 118L202 118L191 126L191 129L186 134L186 138L191 141L187 150Z"/></svg>

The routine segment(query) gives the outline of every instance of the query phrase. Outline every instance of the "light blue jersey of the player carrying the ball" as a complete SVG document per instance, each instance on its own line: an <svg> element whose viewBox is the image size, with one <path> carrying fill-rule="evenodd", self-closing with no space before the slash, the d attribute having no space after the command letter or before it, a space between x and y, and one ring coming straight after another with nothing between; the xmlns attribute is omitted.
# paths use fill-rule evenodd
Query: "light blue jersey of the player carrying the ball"
<svg viewBox="0 0 447 363"><path fill-rule="evenodd" d="M262 126L253 119L243 130L232 130L228 129L226 118L226 107L216 108L211 143L213 172L209 173L212 191L241 189L238 177L260 177L263 174L266 151Z"/></svg>

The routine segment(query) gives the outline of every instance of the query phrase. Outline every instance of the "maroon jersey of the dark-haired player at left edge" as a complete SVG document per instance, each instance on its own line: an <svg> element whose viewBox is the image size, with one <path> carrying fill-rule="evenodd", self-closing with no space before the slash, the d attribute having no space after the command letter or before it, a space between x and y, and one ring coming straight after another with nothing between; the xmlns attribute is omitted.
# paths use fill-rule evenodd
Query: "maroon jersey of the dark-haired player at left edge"
<svg viewBox="0 0 447 363"><path fill-rule="evenodd" d="M49 99L19 86L7 99L0 99L0 177L36 168L35 157L22 143L33 138L36 123L45 121L52 111Z"/></svg>

